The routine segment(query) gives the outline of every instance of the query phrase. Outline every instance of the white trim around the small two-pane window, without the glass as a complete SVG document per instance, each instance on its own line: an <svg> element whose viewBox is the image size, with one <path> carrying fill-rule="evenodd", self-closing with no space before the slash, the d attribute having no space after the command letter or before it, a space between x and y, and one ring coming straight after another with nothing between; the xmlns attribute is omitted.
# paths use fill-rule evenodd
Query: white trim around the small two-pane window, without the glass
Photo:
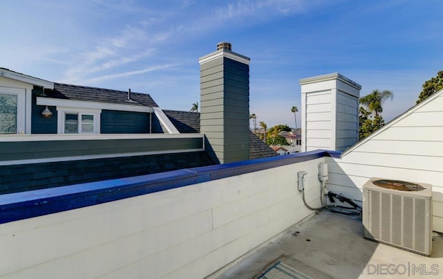
<svg viewBox="0 0 443 279"><path fill-rule="evenodd" d="M93 133L82 133L78 129L78 134L100 134L100 114L101 109L82 109L79 107L57 107L57 134L64 134L64 118L66 114L78 114L78 125L81 126L82 114L94 116Z"/></svg>

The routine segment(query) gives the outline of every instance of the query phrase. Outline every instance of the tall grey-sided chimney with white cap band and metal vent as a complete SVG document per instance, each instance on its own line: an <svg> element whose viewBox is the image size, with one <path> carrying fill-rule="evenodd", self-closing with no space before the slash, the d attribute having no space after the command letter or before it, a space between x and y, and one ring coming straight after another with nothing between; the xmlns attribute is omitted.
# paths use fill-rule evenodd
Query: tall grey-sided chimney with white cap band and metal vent
<svg viewBox="0 0 443 279"><path fill-rule="evenodd" d="M200 57L200 132L218 163L249 159L249 62L228 42Z"/></svg>

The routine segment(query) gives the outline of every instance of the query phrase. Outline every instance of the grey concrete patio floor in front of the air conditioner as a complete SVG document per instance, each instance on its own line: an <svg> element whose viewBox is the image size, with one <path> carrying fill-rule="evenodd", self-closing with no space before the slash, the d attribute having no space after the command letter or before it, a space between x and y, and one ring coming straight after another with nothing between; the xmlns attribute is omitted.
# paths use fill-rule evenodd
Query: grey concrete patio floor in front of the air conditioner
<svg viewBox="0 0 443 279"><path fill-rule="evenodd" d="M211 277L259 278L280 261L311 278L441 278L442 234L432 249L426 257L365 240L360 217L323 210Z"/></svg>

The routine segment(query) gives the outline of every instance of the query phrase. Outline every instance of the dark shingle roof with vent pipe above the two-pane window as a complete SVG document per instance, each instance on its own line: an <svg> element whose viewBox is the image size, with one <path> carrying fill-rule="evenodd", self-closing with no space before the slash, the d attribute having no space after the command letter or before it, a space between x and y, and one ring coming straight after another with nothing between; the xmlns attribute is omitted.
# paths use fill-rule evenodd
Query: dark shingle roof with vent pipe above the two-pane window
<svg viewBox="0 0 443 279"><path fill-rule="evenodd" d="M140 105L145 107L158 107L149 94L131 93L128 101L127 91L103 89L98 87L84 87L73 84L54 83L54 89L45 89L41 97L64 100L80 100L89 102L109 102L120 105Z"/></svg>

